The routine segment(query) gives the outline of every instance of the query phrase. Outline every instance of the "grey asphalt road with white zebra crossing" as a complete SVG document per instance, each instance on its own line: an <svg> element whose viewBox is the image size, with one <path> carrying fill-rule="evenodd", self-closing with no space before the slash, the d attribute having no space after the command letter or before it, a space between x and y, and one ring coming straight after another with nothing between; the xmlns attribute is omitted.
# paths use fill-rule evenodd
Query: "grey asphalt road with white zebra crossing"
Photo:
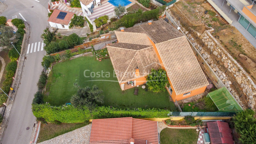
<svg viewBox="0 0 256 144"><path fill-rule="evenodd" d="M3 0L7 4L7 9L1 16L7 16L7 19L14 17L24 17L31 27L30 42L42 42L40 35L47 22L47 0ZM15 16L16 15L16 16ZM27 48L25 48L27 49ZM39 49L39 48L38 48ZM41 49L41 46L40 46ZM32 113L31 103L35 92L37 92L37 81L43 69L41 66L42 57L46 54L43 51L30 51L26 54L27 59L23 67L20 86L16 90L16 97L12 105L9 116L9 122L2 137L2 144L28 144L32 135L32 127L36 120ZM26 130L30 127L29 130Z"/></svg>

